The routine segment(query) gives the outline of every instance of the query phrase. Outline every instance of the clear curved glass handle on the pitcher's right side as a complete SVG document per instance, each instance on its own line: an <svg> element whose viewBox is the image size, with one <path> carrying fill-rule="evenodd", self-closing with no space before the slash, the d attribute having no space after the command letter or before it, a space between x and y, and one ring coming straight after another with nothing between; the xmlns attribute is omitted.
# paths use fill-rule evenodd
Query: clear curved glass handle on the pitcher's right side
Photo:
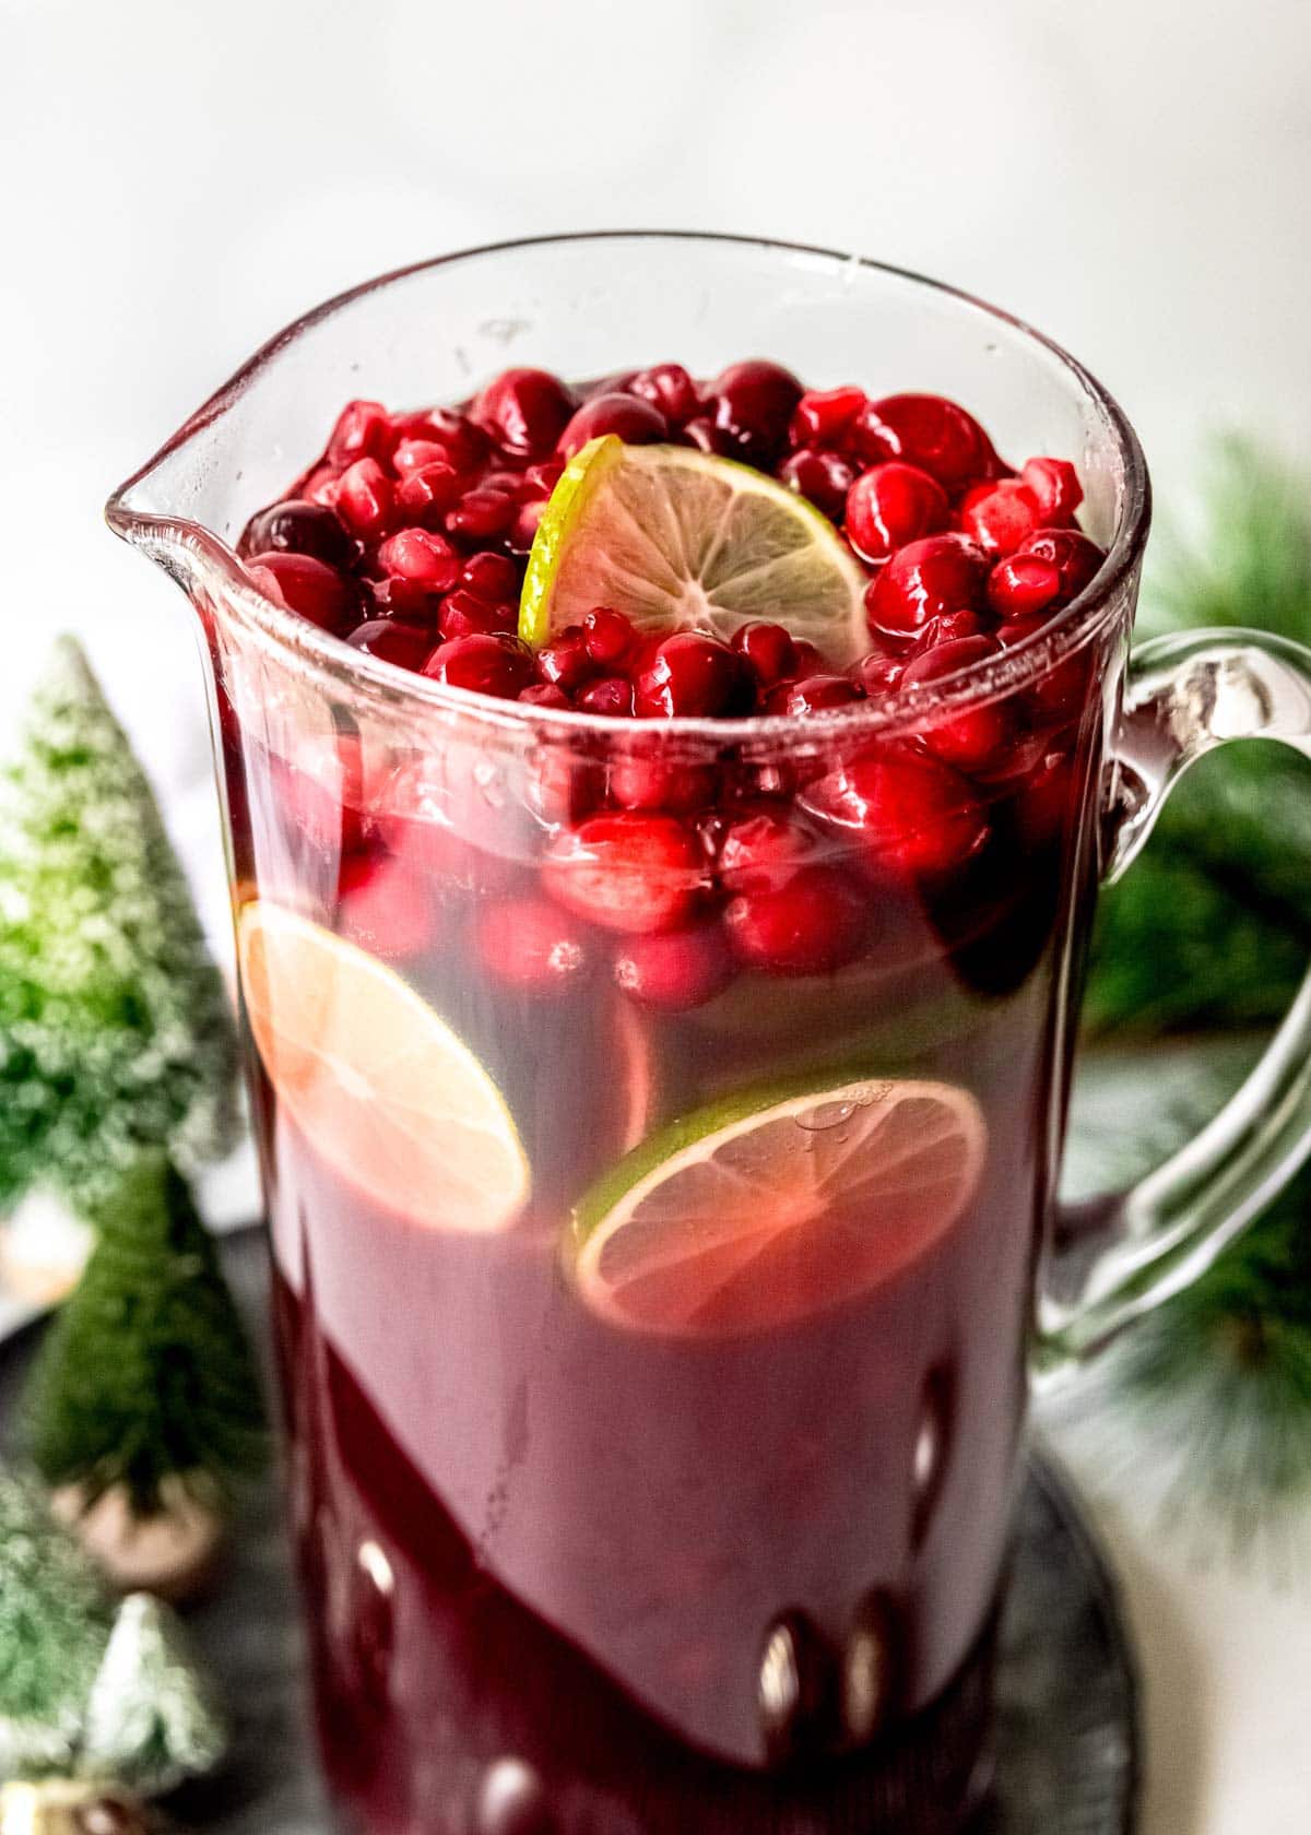
<svg viewBox="0 0 1311 1835"><path fill-rule="evenodd" d="M1135 859L1184 771L1232 740L1311 758L1311 650L1247 629L1144 644L1115 736L1104 879ZM1058 1217L1037 1308L1036 1374L1100 1351L1197 1279L1311 1151L1311 971L1236 1095L1155 1173Z"/></svg>

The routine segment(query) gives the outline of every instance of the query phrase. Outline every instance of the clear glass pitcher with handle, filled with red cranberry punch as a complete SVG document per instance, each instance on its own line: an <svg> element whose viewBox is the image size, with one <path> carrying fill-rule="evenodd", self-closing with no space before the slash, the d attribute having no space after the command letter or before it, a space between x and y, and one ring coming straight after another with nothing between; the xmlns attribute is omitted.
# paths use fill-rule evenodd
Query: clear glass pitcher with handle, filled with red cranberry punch
<svg viewBox="0 0 1311 1835"><path fill-rule="evenodd" d="M828 721L652 725L395 670L237 558L351 396L749 352L815 385L933 389L1003 451L1074 459L1102 573L988 673ZM1208 631L1129 662L1148 516L1116 404L1006 314L874 262L663 233L345 294L112 499L204 633L343 1828L936 1831L977 1802L1030 1371L1199 1273L1311 1123L1304 993L1190 1149L1058 1217L1098 883L1203 752L1311 751L1296 646ZM626 929L652 883L604 921L595 877L549 897L633 771L696 782L711 815L813 807L988 710L1030 741L938 809L949 857L889 879L830 796L806 870L856 938L841 965L707 969L678 850L656 895L687 901L692 958L654 963Z"/></svg>

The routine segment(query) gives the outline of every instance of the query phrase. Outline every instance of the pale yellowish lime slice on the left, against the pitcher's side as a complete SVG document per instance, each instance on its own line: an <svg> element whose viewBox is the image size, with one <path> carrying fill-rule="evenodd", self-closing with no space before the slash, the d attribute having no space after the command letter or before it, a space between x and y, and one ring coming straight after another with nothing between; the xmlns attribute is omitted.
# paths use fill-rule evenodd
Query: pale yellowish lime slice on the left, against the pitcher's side
<svg viewBox="0 0 1311 1835"><path fill-rule="evenodd" d="M351 1185L431 1229L507 1229L529 1162L501 1092L408 982L297 912L237 919L250 1029L277 1097Z"/></svg>

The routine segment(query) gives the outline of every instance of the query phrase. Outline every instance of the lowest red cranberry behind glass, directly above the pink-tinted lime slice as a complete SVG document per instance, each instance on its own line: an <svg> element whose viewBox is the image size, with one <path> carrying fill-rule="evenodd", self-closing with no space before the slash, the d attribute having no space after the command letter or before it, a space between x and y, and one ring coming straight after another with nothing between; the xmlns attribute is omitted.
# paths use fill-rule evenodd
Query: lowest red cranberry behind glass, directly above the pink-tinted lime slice
<svg viewBox="0 0 1311 1835"><path fill-rule="evenodd" d="M802 866L771 892L740 892L723 906L740 962L766 974L832 974L865 947L868 899L834 866Z"/></svg>

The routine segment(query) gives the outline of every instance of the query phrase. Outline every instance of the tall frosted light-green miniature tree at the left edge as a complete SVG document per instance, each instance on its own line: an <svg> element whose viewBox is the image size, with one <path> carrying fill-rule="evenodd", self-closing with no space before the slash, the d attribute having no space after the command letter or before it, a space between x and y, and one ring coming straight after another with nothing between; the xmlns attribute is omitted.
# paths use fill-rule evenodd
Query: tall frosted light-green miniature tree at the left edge
<svg viewBox="0 0 1311 1835"><path fill-rule="evenodd" d="M235 1064L151 785L61 639L0 776L0 1217L33 1187L84 1215L143 1147L220 1156Z"/></svg>

